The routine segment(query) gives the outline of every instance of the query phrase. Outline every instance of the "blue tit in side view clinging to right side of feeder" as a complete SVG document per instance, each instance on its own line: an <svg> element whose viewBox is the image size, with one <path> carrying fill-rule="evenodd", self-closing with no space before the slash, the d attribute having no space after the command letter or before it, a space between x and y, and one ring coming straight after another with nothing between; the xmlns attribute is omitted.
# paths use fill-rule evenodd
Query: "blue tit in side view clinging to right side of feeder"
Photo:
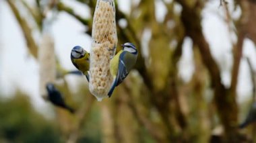
<svg viewBox="0 0 256 143"><path fill-rule="evenodd" d="M110 60L110 73L113 76L113 83L110 91L108 91L108 97L112 95L115 87L127 77L137 60L138 53L133 44L125 43L121 46L123 49Z"/></svg>

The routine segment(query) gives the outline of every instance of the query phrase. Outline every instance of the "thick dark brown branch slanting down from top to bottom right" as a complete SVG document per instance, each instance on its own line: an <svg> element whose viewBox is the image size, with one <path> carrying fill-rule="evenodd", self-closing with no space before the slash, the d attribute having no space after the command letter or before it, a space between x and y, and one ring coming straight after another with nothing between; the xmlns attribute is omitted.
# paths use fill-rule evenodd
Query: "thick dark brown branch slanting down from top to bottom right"
<svg viewBox="0 0 256 143"><path fill-rule="evenodd" d="M212 57L210 46L206 42L201 30L201 7L189 7L184 1L177 0L182 6L183 11L181 19L183 21L185 31L199 48L199 52L203 59L203 64L210 73L212 85L214 87L214 99L220 115L220 120L226 131L226 137L230 142L236 140L236 122L237 122L237 105L236 98L228 94L220 77L220 69L218 64Z"/></svg>

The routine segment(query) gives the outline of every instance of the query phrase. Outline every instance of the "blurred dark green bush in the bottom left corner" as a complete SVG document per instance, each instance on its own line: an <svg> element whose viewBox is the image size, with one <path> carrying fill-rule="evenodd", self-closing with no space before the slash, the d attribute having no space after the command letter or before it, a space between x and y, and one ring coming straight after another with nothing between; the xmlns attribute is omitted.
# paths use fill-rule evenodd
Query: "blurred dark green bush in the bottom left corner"
<svg viewBox="0 0 256 143"><path fill-rule="evenodd" d="M7 142L61 142L55 122L34 110L27 95L0 99L0 140Z"/></svg>

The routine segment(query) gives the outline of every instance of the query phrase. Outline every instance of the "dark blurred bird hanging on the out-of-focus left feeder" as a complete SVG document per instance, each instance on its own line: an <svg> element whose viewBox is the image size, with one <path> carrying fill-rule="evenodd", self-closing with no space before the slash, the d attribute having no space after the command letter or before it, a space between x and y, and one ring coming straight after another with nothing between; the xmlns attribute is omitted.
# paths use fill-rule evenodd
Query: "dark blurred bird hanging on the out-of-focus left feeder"
<svg viewBox="0 0 256 143"><path fill-rule="evenodd" d="M49 101L51 101L51 103L53 103L53 105L67 109L71 113L75 112L75 110L73 108L66 105L66 103L63 99L63 96L61 95L61 92L58 89L56 89L56 87L55 87L55 85L53 85L53 83L46 84L46 91L48 93L46 98Z"/></svg>

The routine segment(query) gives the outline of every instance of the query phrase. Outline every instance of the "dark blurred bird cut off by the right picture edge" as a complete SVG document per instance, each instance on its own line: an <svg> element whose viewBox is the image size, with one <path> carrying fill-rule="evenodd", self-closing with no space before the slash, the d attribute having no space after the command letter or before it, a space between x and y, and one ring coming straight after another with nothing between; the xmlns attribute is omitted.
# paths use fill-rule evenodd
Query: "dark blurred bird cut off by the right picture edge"
<svg viewBox="0 0 256 143"><path fill-rule="evenodd" d="M256 102L254 102L253 105L251 105L251 109L249 110L249 113L245 121L239 125L239 128L245 128L253 122L256 122Z"/></svg>

